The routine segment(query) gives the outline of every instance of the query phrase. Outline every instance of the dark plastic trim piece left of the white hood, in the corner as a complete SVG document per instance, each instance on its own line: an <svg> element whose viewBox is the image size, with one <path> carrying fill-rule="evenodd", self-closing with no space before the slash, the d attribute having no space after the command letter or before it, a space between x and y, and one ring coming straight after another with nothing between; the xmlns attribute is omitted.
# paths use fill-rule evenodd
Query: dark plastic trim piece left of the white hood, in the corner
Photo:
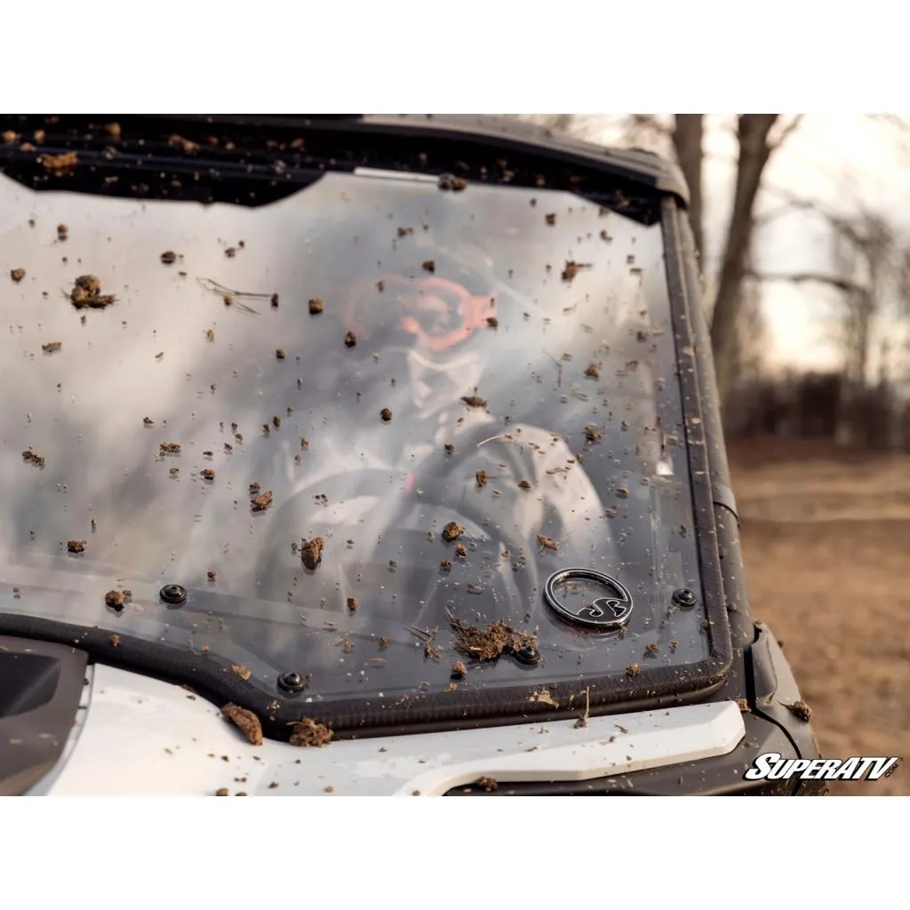
<svg viewBox="0 0 910 910"><path fill-rule="evenodd" d="M15 662L32 657L45 658L52 672L42 673L40 685L47 691L40 693L35 707L0 715L0 796L24 794L59 760L85 681L85 652L65 644L0 634L0 671L11 678L7 684L15 684ZM20 682L29 681L24 676ZM15 701L12 693L5 694L10 703Z"/></svg>

